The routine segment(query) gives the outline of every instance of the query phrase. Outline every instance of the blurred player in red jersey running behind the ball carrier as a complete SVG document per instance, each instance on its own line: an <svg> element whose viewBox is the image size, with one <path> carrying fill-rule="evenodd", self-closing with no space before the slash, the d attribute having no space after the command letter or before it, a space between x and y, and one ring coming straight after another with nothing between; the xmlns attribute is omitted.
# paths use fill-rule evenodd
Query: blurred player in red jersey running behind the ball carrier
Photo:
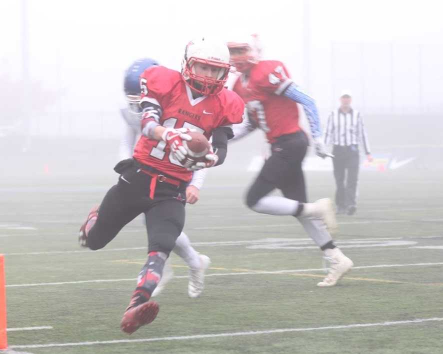
<svg viewBox="0 0 443 354"><path fill-rule="evenodd" d="M246 204L252 210L272 215L293 215L330 261L330 270L318 286L333 286L353 265L335 246L329 232L336 228L330 199L308 203L301 162L308 138L298 123L300 103L309 121L316 154L328 155L321 140L320 122L314 100L290 78L281 61L260 60L256 35L227 43L230 62L242 74L233 85L245 101L247 117L234 126L234 139L256 127L262 129L271 144L271 156L250 186ZM283 196L267 195L273 189Z"/></svg>

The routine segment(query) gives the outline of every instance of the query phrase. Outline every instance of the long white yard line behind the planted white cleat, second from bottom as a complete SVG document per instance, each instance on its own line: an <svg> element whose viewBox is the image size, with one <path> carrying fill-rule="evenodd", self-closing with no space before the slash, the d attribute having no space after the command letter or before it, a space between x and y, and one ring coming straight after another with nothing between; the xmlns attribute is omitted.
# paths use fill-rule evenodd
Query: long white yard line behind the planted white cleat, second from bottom
<svg viewBox="0 0 443 354"><path fill-rule="evenodd" d="M407 264L375 264L375 265L361 265L354 266L352 270L355 269L367 269L367 268L390 268L390 267L403 267L403 266L426 266L426 265L442 265L443 262L435 263L407 263ZM298 273L303 271L324 271L327 268L308 268L308 269L283 269L283 270L273 270L273 271L243 271L243 272L233 272L233 273L210 273L205 274L208 276L230 276L230 275L251 275L251 274L283 274L283 273ZM188 278L187 275L178 275L174 278ZM78 280L78 281L60 281L60 282L40 282L40 283L29 283L29 284L9 284L6 287L27 287L27 286L46 286L46 285L65 285L65 284L81 284L87 282L113 282L113 281L135 281L136 278L123 278L123 279L94 279L94 280Z"/></svg>

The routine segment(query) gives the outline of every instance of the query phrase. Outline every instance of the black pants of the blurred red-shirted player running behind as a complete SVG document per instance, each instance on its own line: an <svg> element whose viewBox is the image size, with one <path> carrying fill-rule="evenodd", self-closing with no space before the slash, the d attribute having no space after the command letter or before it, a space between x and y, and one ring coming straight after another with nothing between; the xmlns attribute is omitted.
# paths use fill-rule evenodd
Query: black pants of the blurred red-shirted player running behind
<svg viewBox="0 0 443 354"><path fill-rule="evenodd" d="M271 145L272 154L264 162L260 173L249 187L246 204L251 207L275 188L286 198L306 202L303 161L308 139L304 131L282 135Z"/></svg>

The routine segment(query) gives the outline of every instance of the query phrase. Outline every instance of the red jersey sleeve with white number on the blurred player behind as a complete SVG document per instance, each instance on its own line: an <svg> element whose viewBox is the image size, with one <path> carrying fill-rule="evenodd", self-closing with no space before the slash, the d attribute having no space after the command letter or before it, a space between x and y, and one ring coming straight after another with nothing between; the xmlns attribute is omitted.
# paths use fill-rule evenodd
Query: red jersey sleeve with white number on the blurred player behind
<svg viewBox="0 0 443 354"><path fill-rule="evenodd" d="M265 100L271 94L280 95L292 82L289 72L281 61L263 60L251 72L253 98Z"/></svg>

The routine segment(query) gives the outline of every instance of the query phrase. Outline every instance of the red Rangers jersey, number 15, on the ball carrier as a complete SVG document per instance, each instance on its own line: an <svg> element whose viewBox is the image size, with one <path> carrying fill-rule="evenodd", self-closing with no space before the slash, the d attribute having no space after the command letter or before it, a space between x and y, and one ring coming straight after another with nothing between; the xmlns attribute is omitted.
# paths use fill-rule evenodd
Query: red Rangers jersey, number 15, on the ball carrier
<svg viewBox="0 0 443 354"><path fill-rule="evenodd" d="M171 128L194 128L206 138L219 126L229 126L242 121L244 103L234 92L223 88L215 95L192 98L190 88L178 71L164 66L152 66L140 76L146 88L143 98L161 107L160 124ZM134 148L133 157L166 175L188 182L192 172L173 158L164 141L141 135Z"/></svg>

